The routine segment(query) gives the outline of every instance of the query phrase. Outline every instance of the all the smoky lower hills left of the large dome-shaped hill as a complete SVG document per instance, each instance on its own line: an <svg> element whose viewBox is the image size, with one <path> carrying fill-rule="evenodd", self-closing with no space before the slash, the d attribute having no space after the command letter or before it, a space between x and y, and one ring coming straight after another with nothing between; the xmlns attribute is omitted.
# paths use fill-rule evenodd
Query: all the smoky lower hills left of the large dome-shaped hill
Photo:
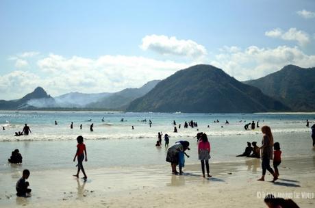
<svg viewBox="0 0 315 208"><path fill-rule="evenodd" d="M134 99L149 92L160 80L149 81L141 88L127 88L120 92L80 93L70 92L53 98L38 87L14 101L0 100L0 109L114 109L123 110Z"/></svg>

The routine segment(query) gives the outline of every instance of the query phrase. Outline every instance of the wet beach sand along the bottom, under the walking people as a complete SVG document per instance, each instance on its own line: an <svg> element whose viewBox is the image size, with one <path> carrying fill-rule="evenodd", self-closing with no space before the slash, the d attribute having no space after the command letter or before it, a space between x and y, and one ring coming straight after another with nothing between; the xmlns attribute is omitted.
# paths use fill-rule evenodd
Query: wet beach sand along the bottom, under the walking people
<svg viewBox="0 0 315 208"><path fill-rule="evenodd" d="M21 172L1 173L0 207L266 207L269 192L314 207L314 156L283 160L276 183L268 182L270 174L257 181L261 171L260 159L247 158L210 162L211 179L201 177L199 164L188 164L182 176L172 175L168 164L87 169L86 182L72 177L75 168L45 170L31 172L30 198L15 195Z"/></svg>

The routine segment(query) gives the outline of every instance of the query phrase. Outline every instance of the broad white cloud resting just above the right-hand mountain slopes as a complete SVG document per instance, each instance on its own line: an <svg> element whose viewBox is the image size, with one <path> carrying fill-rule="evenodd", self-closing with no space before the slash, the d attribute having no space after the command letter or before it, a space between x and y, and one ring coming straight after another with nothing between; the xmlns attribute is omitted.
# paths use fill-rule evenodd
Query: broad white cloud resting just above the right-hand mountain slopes
<svg viewBox="0 0 315 208"><path fill-rule="evenodd" d="M281 46L265 49L251 46L242 51L220 53L210 64L244 81L274 73L288 64L305 68L314 67L315 55L306 55L298 47Z"/></svg>

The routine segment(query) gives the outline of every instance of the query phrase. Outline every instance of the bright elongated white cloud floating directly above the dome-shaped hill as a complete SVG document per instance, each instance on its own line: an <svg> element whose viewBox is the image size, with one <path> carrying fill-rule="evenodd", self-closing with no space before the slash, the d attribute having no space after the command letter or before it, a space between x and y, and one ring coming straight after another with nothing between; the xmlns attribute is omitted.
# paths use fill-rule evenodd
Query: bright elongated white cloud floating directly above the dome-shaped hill
<svg viewBox="0 0 315 208"><path fill-rule="evenodd" d="M207 50L201 44L192 40L177 40L168 36L145 36L140 48L144 51L152 50L163 55L180 55L186 57L203 57Z"/></svg>

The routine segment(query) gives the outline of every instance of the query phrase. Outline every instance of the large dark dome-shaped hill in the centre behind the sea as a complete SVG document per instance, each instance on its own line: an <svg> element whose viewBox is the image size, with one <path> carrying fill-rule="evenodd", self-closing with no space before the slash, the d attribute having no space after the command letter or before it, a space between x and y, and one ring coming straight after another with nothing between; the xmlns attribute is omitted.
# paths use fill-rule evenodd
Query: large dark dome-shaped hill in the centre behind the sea
<svg viewBox="0 0 315 208"><path fill-rule="evenodd" d="M132 101L128 112L250 113L288 111L261 90L220 68L196 65L177 71Z"/></svg>

